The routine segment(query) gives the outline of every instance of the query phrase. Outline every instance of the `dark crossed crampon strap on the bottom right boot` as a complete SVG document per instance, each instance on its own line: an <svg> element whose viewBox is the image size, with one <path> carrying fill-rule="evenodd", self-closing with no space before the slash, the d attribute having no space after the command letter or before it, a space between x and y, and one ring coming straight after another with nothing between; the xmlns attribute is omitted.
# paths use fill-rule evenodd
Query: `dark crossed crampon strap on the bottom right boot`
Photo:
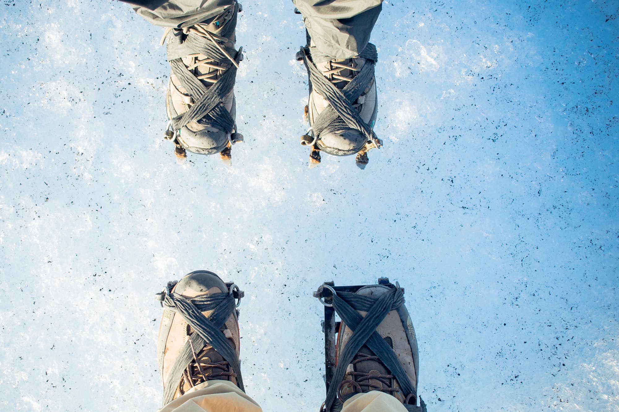
<svg viewBox="0 0 619 412"><path fill-rule="evenodd" d="M352 362L355 354L358 353L363 345L367 345L374 354L378 356L384 366L391 371L391 374L396 378L404 395L412 393L415 398L417 398L417 390L410 382L396 353L391 346L387 345L384 338L376 332L376 327L383 322L383 319L389 311L396 310L403 304L404 293L399 287L391 288L378 298L349 292L337 292L334 294L333 308L340 319L342 319L342 323L350 328L353 333L344 346L344 349L340 351L338 355L337 367L335 367L331 380L332 384L329 386L329 391L327 392L327 398L325 400L326 411L331 411L334 401L337 398L339 385L335 383L342 382L348 364ZM367 312L367 314L361 316L357 311ZM425 403L422 403L422 406L404 406L410 411L425 411Z"/></svg>

